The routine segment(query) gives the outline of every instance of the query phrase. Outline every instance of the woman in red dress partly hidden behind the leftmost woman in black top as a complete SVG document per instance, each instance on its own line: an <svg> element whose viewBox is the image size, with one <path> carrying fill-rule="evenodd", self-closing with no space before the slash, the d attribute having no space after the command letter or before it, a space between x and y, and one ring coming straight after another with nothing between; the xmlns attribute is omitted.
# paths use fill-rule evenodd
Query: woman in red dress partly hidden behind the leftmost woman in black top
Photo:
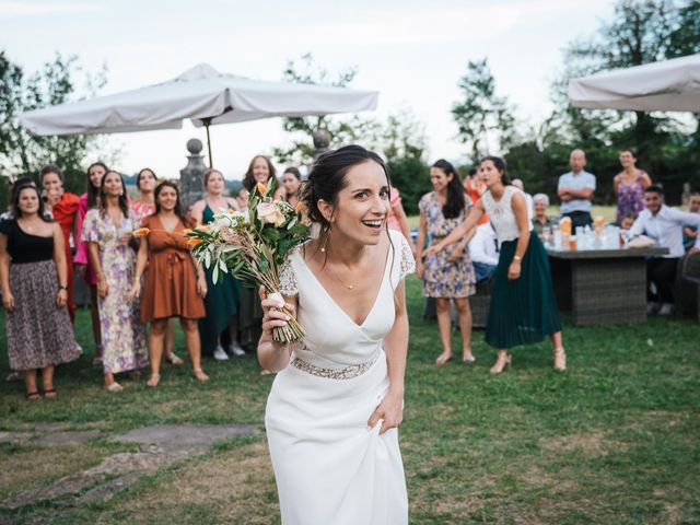
<svg viewBox="0 0 700 525"><path fill-rule="evenodd" d="M66 250L66 269L68 270L68 313L70 322L75 320L75 301L73 299L73 257L70 250L70 236L74 236L78 224L79 197L75 194L63 191L63 173L58 166L49 164L39 172L42 186L44 187L44 198L46 209L51 212L54 219L61 226L63 232L63 247Z"/></svg>

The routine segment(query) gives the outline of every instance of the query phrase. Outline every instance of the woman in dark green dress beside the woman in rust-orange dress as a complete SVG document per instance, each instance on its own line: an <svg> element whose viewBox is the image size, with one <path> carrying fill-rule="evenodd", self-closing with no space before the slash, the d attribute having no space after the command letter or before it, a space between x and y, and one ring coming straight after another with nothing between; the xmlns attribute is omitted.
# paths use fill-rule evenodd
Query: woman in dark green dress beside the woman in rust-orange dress
<svg viewBox="0 0 700 525"><path fill-rule="evenodd" d="M223 210L238 210L236 200L223 195L226 182L221 172L209 170L205 173L205 190L207 197L195 202L191 219L197 225L207 224L213 220L214 213ZM245 351L237 340L238 334L238 305L241 301L241 283L224 273L214 284L212 269L205 269L207 276L207 296L205 308L207 316L199 319L199 336L201 338L201 352L203 355L213 355L218 361L229 359L228 353L220 342L221 332L229 329L229 352L233 355L243 355Z"/></svg>

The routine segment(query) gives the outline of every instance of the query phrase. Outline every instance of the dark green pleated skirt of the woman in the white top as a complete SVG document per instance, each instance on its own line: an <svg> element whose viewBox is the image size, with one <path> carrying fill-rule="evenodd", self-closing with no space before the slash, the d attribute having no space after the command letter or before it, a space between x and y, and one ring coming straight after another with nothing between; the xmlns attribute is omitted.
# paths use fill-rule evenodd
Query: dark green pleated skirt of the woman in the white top
<svg viewBox="0 0 700 525"><path fill-rule="evenodd" d="M508 269L516 246L517 240L501 245L499 266L493 276L486 342L498 349L532 345L561 331L549 258L541 241L530 234L521 262L521 277L511 281Z"/></svg>

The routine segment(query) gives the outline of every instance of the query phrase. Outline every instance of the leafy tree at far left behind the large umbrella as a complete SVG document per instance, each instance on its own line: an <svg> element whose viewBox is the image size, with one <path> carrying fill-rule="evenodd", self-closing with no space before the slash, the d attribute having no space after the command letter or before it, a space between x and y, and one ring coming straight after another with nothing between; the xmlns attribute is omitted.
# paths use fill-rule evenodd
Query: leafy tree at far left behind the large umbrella
<svg viewBox="0 0 700 525"><path fill-rule="evenodd" d="M54 163L63 170L66 189L82 192L85 185L82 164L103 141L94 136L33 136L20 124L20 115L94 96L105 82L106 68L89 74L82 71L78 57L60 54L27 77L21 66L0 50L0 172L5 182L18 176L35 176L43 165ZM114 152L108 153L114 156ZM0 184L3 203L7 186Z"/></svg>

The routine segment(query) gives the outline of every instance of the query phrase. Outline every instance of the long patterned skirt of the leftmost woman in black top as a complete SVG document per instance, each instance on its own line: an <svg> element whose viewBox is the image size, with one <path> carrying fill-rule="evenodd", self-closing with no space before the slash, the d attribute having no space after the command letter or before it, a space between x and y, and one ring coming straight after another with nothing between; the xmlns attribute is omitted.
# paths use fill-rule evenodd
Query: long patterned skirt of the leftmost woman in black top
<svg viewBox="0 0 700 525"><path fill-rule="evenodd" d="M5 312L12 370L68 363L81 354L66 306L56 306L58 275L52 260L10 265L14 312Z"/></svg>

